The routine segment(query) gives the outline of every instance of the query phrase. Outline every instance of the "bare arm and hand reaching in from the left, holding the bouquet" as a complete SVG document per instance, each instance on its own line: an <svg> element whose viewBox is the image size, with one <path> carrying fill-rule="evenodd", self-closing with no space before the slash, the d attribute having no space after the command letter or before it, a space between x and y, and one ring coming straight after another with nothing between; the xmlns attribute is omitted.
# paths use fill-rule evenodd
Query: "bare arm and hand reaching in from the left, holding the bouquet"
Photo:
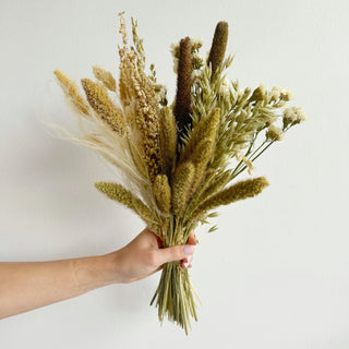
<svg viewBox="0 0 349 349"><path fill-rule="evenodd" d="M163 249L145 228L124 248L104 255L50 262L0 262L0 318L74 298L111 284L130 284L181 261L191 267L194 232L184 246Z"/></svg>

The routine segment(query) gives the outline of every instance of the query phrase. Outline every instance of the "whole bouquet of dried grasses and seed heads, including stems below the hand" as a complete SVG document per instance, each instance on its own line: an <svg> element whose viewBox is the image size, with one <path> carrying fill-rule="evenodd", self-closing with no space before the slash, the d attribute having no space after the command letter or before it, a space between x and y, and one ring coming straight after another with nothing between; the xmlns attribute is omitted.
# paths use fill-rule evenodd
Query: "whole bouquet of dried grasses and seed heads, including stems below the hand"
<svg viewBox="0 0 349 349"><path fill-rule="evenodd" d="M65 137L94 149L123 174L121 183L97 182L100 192L133 209L164 246L185 244L198 224L216 216L213 209L268 185L264 177L236 178L244 170L251 174L261 154L305 119L304 110L286 108L292 98L287 88L241 89L238 81L226 79L233 60L225 58L226 22L217 24L207 59L200 55L200 40L185 37L171 47L177 73L171 105L154 65L145 71L137 22L132 19L133 44L122 13L119 32L118 83L94 65L95 80L81 81L84 98L74 82L55 71L80 121L81 134L64 131ZM167 315L188 334L190 318L197 320L194 293L188 269L179 262L164 265L152 300L160 322Z"/></svg>

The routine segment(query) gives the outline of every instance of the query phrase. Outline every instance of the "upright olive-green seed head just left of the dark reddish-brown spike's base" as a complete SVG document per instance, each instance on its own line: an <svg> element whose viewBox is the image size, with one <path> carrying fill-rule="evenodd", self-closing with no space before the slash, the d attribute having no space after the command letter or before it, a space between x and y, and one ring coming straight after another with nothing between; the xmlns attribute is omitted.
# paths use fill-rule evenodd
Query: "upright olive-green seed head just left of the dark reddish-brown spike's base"
<svg viewBox="0 0 349 349"><path fill-rule="evenodd" d="M176 120L169 107L164 107L160 112L160 159L161 167L170 179L176 165L177 128Z"/></svg>

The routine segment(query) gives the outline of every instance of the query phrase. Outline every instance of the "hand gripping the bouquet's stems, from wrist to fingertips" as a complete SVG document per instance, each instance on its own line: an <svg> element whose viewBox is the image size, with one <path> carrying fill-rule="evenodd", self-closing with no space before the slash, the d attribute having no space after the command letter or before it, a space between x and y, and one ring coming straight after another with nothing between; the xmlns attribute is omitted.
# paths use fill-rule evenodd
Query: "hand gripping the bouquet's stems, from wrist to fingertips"
<svg viewBox="0 0 349 349"><path fill-rule="evenodd" d="M183 268L191 267L195 244L194 232L191 232L186 245L163 249L160 239L145 228L124 248L109 254L115 263L115 282L141 280L160 270L167 262L181 261Z"/></svg>

